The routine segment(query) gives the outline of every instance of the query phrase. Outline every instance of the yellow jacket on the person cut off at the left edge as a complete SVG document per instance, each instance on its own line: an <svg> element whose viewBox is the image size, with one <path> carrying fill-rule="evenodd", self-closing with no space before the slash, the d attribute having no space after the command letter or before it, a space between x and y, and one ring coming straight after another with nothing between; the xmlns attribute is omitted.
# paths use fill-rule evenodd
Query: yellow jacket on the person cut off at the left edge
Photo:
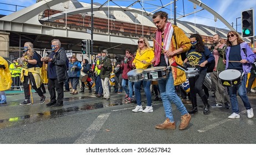
<svg viewBox="0 0 256 155"><path fill-rule="evenodd" d="M0 68L0 91L4 91L11 88L12 77L8 68L8 63L2 56L0 56L0 64L6 67L6 69Z"/></svg>

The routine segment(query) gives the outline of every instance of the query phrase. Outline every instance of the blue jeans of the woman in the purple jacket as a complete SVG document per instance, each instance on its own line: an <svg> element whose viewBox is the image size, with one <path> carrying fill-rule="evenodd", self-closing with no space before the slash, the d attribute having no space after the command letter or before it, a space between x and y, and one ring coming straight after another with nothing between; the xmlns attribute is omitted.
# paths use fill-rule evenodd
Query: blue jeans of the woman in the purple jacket
<svg viewBox="0 0 256 155"><path fill-rule="evenodd" d="M233 87L228 87L228 95L230 97L232 111L235 113L239 113L238 109L238 101L237 101L237 91L238 95L243 101L244 107L246 110L252 108L249 103L248 96L246 94L246 81L247 81L247 74L244 74L242 78L241 84Z"/></svg>

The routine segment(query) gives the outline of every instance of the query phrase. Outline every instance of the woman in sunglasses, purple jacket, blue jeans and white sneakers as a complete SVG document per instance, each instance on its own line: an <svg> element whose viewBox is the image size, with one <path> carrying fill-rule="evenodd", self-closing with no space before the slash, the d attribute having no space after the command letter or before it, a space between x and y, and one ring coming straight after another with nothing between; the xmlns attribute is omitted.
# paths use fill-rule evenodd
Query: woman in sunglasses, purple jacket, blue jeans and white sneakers
<svg viewBox="0 0 256 155"><path fill-rule="evenodd" d="M243 101L245 109L247 110L247 117L252 118L254 114L253 108L250 106L248 96L246 94L246 82L247 74L252 68L252 63L256 60L256 55L253 53L250 46L244 42L244 40L237 32L233 30L228 32L227 38L227 59L223 60L224 64L226 64L226 69L235 69L239 70L241 74L244 73L242 82L239 85L228 87L228 95L231 100L233 111L233 113L228 116L228 118L240 118L237 91L238 95Z"/></svg>

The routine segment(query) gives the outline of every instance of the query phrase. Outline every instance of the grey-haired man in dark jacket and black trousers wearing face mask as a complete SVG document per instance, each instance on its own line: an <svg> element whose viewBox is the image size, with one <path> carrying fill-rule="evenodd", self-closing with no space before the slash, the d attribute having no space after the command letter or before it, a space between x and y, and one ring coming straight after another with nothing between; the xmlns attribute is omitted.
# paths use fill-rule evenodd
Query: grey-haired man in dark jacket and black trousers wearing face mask
<svg viewBox="0 0 256 155"><path fill-rule="evenodd" d="M48 60L48 90L50 102L46 106L63 106L64 90L63 84L66 79L68 58L65 49L61 47L59 39L52 40L52 52ZM41 59L43 60L43 58ZM58 94L56 100L56 92Z"/></svg>

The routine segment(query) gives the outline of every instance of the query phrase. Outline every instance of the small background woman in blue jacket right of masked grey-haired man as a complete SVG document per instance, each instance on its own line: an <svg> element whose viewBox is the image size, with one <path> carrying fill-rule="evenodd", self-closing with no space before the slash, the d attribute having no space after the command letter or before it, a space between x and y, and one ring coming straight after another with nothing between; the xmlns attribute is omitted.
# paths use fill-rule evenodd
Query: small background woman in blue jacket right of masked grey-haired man
<svg viewBox="0 0 256 155"><path fill-rule="evenodd" d="M69 80L72 85L72 91L70 94L78 94L78 91L76 90L76 87L78 86L78 81L80 77L80 70L81 70L81 64L79 63L78 59L75 55L71 56L71 60L69 62Z"/></svg>

